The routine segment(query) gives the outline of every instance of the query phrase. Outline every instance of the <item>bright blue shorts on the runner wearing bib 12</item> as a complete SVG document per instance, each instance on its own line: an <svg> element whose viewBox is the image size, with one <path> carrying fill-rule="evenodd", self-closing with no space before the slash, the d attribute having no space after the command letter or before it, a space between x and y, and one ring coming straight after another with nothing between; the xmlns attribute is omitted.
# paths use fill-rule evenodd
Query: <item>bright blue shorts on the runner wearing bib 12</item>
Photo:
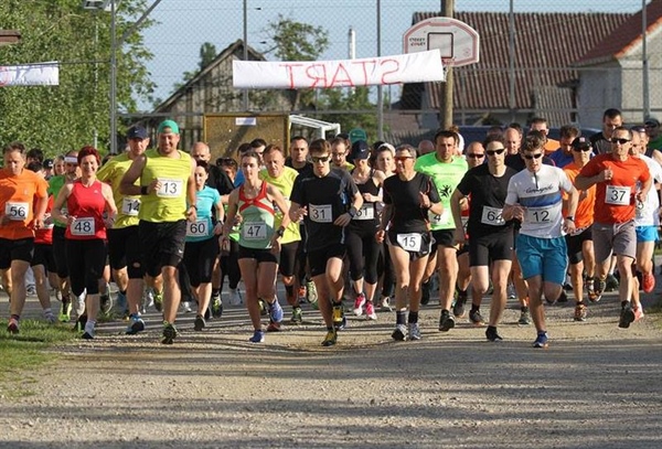
<svg viewBox="0 0 662 449"><path fill-rule="evenodd" d="M540 238L520 234L515 253L524 279L542 276L546 282L563 286L568 267L564 237Z"/></svg>

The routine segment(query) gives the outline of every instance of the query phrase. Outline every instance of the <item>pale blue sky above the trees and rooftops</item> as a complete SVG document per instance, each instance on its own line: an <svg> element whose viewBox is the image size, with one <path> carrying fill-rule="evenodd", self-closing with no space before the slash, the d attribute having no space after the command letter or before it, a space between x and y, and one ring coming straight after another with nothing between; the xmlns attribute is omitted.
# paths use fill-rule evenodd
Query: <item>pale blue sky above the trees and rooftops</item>
<svg viewBox="0 0 662 449"><path fill-rule="evenodd" d="M637 12L645 0L512 0L515 12ZM151 4L153 0L148 0ZM399 54L403 33L412 25L414 12L439 11L439 0L381 0L382 55ZM356 57L377 55L376 0L246 0L248 45L268 49L265 29L278 14L329 31L330 46L324 60L349 55L349 30L356 33ZM168 98L173 85L200 61L200 46L211 42L221 52L244 35L243 0L162 0L150 18L159 22L143 32L147 47L154 54L148 63L158 85L154 97ZM456 0L457 11L508 12L509 0ZM267 56L269 58L269 56ZM141 110L151 105L139 101Z"/></svg>

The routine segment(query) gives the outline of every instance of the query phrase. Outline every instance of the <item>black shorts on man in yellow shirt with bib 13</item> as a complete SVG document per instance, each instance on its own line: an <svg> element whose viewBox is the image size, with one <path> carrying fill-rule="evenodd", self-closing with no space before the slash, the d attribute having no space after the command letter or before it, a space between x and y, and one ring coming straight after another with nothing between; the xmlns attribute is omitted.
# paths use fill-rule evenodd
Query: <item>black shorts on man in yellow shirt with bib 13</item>
<svg viewBox="0 0 662 449"><path fill-rule="evenodd" d="M184 256L186 221L138 224L140 255L145 272L151 277L161 274L164 266L177 267Z"/></svg>

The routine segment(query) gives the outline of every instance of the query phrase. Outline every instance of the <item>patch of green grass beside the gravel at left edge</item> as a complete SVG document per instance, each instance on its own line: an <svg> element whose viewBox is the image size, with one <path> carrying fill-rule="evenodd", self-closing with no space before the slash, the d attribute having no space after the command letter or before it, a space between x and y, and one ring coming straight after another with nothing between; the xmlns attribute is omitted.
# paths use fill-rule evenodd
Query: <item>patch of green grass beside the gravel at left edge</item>
<svg viewBox="0 0 662 449"><path fill-rule="evenodd" d="M25 388L26 384L33 382L31 372L56 357L45 350L77 338L78 334L72 332L68 323L21 320L21 332L12 335L7 332L7 321L0 321L0 394L31 394Z"/></svg>

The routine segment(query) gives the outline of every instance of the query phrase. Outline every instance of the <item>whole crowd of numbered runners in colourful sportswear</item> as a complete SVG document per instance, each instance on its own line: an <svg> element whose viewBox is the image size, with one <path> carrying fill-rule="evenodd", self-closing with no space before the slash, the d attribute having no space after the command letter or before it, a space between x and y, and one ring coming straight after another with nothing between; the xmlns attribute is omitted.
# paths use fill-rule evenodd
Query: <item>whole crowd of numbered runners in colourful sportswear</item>
<svg viewBox="0 0 662 449"><path fill-rule="evenodd" d="M662 182L662 158L645 154L647 137L645 128L623 127L620 113L609 109L599 136L587 139L567 126L552 146L545 120L537 119L526 135L513 125L463 152L453 130L439 130L418 148L369 146L345 135L311 142L297 136L289 151L256 139L235 158L212 164L202 142L190 153L178 149L179 127L166 120L154 149L137 126L122 154L102 167L96 149L71 151L63 172L49 181L39 165L28 170L25 148L12 143L0 170L8 331L19 332L31 264L43 268L35 275L56 274L51 282L62 298L60 319L68 321L74 309L85 339L95 338L110 276L129 334L146 329L147 285L163 314L164 344L178 336L182 298L186 310L197 303L196 331L222 316L224 275L233 304L242 301L237 288L244 281L254 343L265 341L265 331L281 329L278 274L292 323L302 321L303 298L319 307L324 346L334 345L346 325L345 285L354 313L367 319L376 319L377 297L383 310L392 310L394 297L392 338L419 340L418 313L429 301L435 272L441 332L465 317L469 298L469 320L482 325L481 299L492 289L485 338L502 340L498 325L513 282L520 324L531 317L533 345L546 348L543 298L563 298L569 272L574 319L584 321L584 288L589 301L599 301L616 266L619 327L628 328L643 317L639 286L654 287L653 181ZM49 280L40 279L44 314L53 317L47 290L43 293Z"/></svg>

